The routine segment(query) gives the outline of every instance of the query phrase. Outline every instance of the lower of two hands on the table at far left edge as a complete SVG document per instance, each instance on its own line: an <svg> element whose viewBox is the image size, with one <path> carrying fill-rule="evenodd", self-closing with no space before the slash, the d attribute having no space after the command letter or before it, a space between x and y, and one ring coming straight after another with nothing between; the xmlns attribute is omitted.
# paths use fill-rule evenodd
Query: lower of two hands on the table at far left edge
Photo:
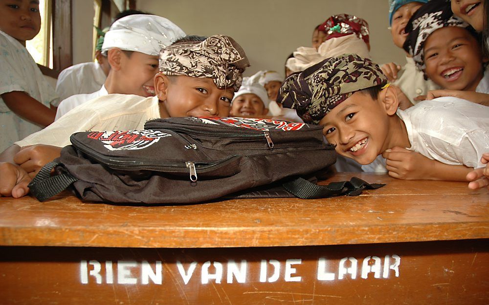
<svg viewBox="0 0 489 305"><path fill-rule="evenodd" d="M19 165L8 162L0 163L0 197L20 198L27 195L27 184L31 178Z"/></svg>

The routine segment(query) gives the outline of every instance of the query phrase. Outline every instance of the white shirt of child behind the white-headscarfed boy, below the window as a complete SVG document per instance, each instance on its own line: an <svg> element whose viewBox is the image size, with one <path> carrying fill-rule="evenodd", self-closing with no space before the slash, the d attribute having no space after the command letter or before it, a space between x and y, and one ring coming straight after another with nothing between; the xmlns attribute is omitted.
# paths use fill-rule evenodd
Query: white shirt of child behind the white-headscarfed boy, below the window
<svg viewBox="0 0 489 305"><path fill-rule="evenodd" d="M82 62L61 71L56 83L60 101L75 95L93 93L100 89L107 76L98 62Z"/></svg>

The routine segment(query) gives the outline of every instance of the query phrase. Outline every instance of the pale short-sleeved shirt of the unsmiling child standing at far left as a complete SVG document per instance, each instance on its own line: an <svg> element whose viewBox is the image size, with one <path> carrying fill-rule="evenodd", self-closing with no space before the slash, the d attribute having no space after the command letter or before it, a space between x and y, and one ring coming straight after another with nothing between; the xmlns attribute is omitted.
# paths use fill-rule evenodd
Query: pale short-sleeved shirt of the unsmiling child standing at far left
<svg viewBox="0 0 489 305"><path fill-rule="evenodd" d="M0 31L0 94L13 91L25 92L46 107L59 103L56 92L27 49ZM0 97L0 152L42 128L19 117Z"/></svg>

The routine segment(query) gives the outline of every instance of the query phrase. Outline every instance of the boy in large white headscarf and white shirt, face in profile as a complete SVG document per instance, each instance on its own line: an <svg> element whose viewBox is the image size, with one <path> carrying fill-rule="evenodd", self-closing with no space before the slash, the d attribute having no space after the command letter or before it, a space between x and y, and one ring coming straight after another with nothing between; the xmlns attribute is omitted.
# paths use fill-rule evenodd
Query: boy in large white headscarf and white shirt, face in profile
<svg viewBox="0 0 489 305"><path fill-rule="evenodd" d="M96 92L62 101L56 120L76 106L108 94L154 96L159 51L183 36L185 33L175 23L156 15L130 15L115 21L101 49L111 65L107 79Z"/></svg>

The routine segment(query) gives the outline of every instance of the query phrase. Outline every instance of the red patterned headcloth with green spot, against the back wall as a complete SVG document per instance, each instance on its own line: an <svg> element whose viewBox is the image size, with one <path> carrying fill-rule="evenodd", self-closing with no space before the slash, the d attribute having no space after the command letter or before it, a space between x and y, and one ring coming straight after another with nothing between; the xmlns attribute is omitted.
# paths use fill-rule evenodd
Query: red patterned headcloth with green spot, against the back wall
<svg viewBox="0 0 489 305"><path fill-rule="evenodd" d="M367 21L353 15L333 15L319 25L318 30L326 33L326 40L355 34L365 43L370 41Z"/></svg>

